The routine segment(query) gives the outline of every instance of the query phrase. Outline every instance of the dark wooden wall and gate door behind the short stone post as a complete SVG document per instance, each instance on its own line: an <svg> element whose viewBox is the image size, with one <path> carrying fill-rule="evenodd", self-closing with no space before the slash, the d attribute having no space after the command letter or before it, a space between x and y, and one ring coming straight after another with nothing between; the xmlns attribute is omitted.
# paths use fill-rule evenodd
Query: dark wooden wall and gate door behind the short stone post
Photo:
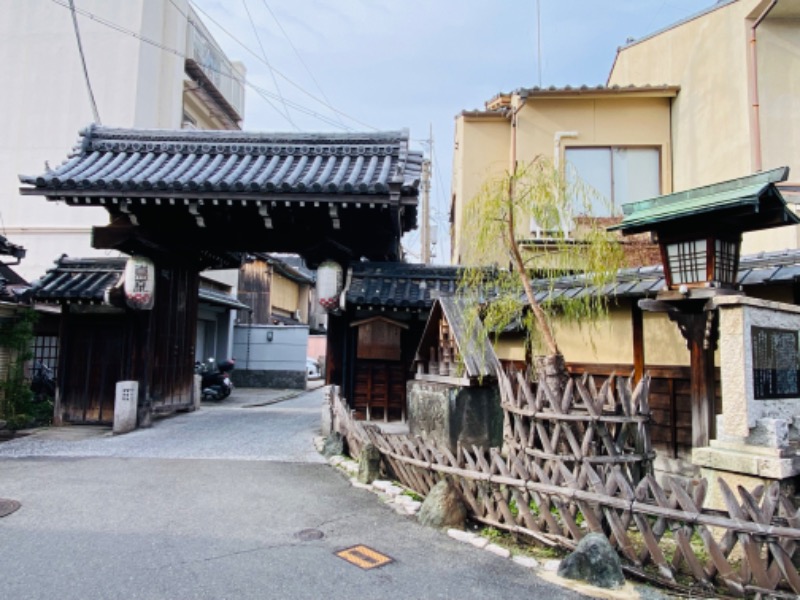
<svg viewBox="0 0 800 600"><path fill-rule="evenodd" d="M140 426L154 412L193 405L198 274L185 267L156 271L151 311L65 308L56 422L112 424L117 381L139 381Z"/></svg>

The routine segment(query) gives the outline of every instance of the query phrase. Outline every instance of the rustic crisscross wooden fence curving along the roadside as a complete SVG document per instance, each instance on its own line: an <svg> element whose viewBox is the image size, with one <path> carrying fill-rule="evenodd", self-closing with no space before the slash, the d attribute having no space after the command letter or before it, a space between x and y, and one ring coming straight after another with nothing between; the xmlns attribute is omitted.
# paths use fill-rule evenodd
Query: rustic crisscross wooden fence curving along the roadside
<svg viewBox="0 0 800 600"><path fill-rule="evenodd" d="M733 490L726 511L706 508L708 482L659 484L649 472L647 380L573 379L564 393L501 376L506 447L455 455L419 437L352 420L334 392L334 425L360 451L369 440L397 479L426 495L456 486L470 517L549 546L608 537L634 576L687 594L796 598L800 511L779 485Z"/></svg>

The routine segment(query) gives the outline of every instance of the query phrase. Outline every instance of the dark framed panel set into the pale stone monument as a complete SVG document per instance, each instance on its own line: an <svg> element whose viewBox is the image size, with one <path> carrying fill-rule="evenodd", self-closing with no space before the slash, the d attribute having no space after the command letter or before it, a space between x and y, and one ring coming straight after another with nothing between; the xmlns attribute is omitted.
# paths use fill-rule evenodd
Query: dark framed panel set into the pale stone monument
<svg viewBox="0 0 800 600"><path fill-rule="evenodd" d="M751 335L754 398L800 398L798 332L753 326Z"/></svg>

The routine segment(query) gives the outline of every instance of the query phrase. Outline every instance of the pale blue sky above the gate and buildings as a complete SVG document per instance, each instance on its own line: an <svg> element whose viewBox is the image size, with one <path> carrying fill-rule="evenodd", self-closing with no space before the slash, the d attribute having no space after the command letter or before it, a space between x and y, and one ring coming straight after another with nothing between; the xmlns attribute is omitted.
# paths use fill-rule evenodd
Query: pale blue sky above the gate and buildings
<svg viewBox="0 0 800 600"><path fill-rule="evenodd" d="M435 264L449 263L457 114L519 88L605 84L627 40L714 3L191 0L228 57L247 68L244 129L410 131L412 147L433 163ZM418 262L419 230L403 246Z"/></svg>

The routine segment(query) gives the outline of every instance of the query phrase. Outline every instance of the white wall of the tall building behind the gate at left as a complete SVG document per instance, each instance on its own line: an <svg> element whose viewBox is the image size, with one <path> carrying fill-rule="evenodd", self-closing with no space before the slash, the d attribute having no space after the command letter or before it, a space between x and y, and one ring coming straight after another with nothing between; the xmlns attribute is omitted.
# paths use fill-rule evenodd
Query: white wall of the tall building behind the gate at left
<svg viewBox="0 0 800 600"><path fill-rule="evenodd" d="M175 0L186 12L187 0ZM77 7L183 50L186 20L168 0L81 0ZM42 276L63 253L107 254L91 248L90 229L105 210L68 208L22 197L18 175L55 167L93 121L70 11L51 0L0 0L0 224L24 246L17 271ZM87 67L103 125L180 126L183 59L78 15Z"/></svg>

